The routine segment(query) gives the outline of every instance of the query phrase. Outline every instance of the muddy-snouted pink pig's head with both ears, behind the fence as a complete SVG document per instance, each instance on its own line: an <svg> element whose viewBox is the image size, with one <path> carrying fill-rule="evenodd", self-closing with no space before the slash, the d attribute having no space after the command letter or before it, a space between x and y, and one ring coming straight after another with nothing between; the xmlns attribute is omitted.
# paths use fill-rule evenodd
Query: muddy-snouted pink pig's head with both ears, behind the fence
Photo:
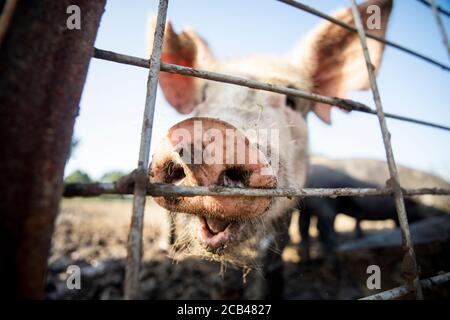
<svg viewBox="0 0 450 320"><path fill-rule="evenodd" d="M381 28L367 31L384 36L392 1L361 4L363 21L369 16L366 13L369 5L380 7ZM350 9L337 12L335 17L353 23ZM383 45L371 39L368 45L377 70ZM368 87L357 34L337 25L323 23L289 56L290 59L252 56L218 61L196 33L188 30L177 34L170 23L166 25L162 52L166 63L323 95L343 98L349 90ZM303 187L308 169L306 117L312 111L330 123L331 106L164 72L160 85L174 108L180 113L193 113L194 117L173 126L159 144L149 170L150 182ZM231 140L229 132L234 134ZM210 161L208 156L218 161ZM156 197L155 201L175 217L177 247L182 249L178 254L200 255L238 265L252 264L259 240L270 234L272 223L292 206L286 198L241 196L167 196Z"/></svg>

